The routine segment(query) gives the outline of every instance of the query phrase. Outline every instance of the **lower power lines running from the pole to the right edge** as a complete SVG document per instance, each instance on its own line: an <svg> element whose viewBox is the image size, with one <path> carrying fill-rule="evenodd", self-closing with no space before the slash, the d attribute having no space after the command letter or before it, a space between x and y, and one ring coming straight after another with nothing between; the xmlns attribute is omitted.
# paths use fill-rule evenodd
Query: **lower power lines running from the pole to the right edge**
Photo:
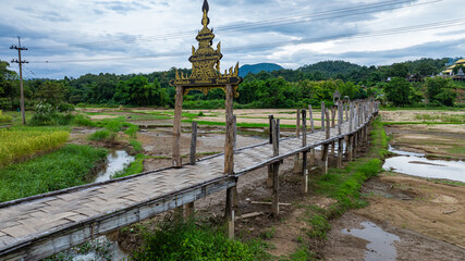
<svg viewBox="0 0 465 261"><path fill-rule="evenodd" d="M446 27L453 27L453 26L460 26L460 25L465 25L465 18L442 21L442 22L412 25L412 26L404 26L404 27L395 27L395 28L388 28L388 29L380 29L380 30L362 32L362 33L354 33L354 34L340 34L340 35L323 36L323 37L303 38L298 40L286 40L286 41L278 41L278 42L270 42L270 44L229 47L229 48L223 48L223 50L237 51L237 50L250 50L250 49L262 49L262 48L277 48L277 47L282 47L287 45L321 42L326 40L333 40L333 39L341 39L341 38L364 38L364 37L374 37L374 36L405 34L405 33L412 33L412 32L415 33L415 32L440 29L440 28L446 28ZM81 62L124 61L124 60L135 60L135 59L138 60L138 59L173 58L173 57L183 57L188 54L191 53L188 51L185 51L185 52L157 53L157 54L137 55L137 57L112 57L112 58L101 58L101 59L34 61L34 63L81 63Z"/></svg>

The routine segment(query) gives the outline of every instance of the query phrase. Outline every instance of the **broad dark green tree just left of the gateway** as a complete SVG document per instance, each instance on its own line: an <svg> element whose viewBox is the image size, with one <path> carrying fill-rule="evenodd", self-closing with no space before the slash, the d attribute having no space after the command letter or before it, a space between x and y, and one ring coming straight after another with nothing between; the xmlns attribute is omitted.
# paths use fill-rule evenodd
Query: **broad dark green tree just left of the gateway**
<svg viewBox="0 0 465 261"><path fill-rule="evenodd" d="M167 95L157 79L149 84L144 76L135 76L117 84L113 99L123 104L164 105Z"/></svg>

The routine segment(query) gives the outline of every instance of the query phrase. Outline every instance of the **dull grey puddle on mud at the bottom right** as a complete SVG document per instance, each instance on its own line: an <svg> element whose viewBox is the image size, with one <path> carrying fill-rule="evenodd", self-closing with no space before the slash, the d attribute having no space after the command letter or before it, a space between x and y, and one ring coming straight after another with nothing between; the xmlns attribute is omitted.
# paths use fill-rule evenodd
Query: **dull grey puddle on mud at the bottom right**
<svg viewBox="0 0 465 261"><path fill-rule="evenodd" d="M363 229L344 228L341 232L369 241L367 245L368 250L365 252L365 261L395 260L397 251L393 244L399 241L400 238L396 235L384 232L371 222L365 221L360 225L364 226Z"/></svg>

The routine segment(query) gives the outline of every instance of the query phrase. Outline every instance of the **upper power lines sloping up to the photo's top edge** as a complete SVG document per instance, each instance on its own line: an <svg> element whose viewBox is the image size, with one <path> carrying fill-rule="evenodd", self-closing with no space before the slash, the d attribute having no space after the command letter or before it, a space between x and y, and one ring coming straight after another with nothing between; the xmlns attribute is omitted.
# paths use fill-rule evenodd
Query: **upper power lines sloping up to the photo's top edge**
<svg viewBox="0 0 465 261"><path fill-rule="evenodd" d="M322 21L322 20L340 18L340 17L367 14L367 13L374 13L374 12L391 11L400 8L412 8L412 7L436 3L440 1L443 1L443 0L431 0L427 2L409 4L408 7L392 7L393 4L402 5L405 3L411 3L412 0L402 0L402 1L390 0L390 1L378 2L378 3L363 4L354 8L344 8L344 9L336 9L331 11L315 12L310 14L301 14L301 15L285 16L285 17L273 18L273 20L233 24L233 25L227 25L223 27L220 26L220 27L217 27L216 29L217 32L220 30L222 33L236 32L236 30L255 30L255 29L262 29L262 28L274 27L274 26L283 26L289 24L308 23L308 22L316 22L316 21ZM194 33L196 33L196 30L170 33L170 34L147 36L147 37L127 39L127 40L124 40L124 39L101 40L101 41L89 41L89 42L81 42L81 44L70 44L66 46L56 46L56 47L38 46L38 47L34 47L34 49L68 49L70 47L76 47L76 48L88 47L89 48L94 45L105 45L106 42L111 42L111 45L107 45L107 46L112 46L112 45L135 44L135 42L142 42L142 41L171 40L171 39L181 39L181 38L192 37L192 34Z"/></svg>

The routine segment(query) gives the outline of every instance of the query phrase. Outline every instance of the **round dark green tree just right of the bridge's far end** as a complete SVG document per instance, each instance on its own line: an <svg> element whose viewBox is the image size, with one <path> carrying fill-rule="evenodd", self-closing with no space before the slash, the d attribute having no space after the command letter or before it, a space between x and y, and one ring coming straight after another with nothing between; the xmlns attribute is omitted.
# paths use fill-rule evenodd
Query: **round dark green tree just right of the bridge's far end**
<svg viewBox="0 0 465 261"><path fill-rule="evenodd" d="M405 78L394 77L384 86L384 94L388 101L394 105L412 104L411 96L413 95L412 84Z"/></svg>

